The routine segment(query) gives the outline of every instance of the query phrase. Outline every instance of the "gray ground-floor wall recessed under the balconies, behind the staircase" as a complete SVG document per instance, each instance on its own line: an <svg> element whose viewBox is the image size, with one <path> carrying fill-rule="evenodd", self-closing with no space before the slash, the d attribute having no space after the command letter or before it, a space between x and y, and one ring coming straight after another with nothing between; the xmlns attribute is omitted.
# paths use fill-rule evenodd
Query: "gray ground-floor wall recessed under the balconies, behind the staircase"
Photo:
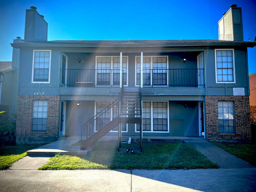
<svg viewBox="0 0 256 192"><path fill-rule="evenodd" d="M77 107L79 103L79 107ZM184 107L186 104L186 108ZM95 101L66 102L65 135L81 135L81 125L94 116ZM107 135L117 135L109 132ZM128 124L128 133L123 136L139 136L135 124ZM169 133L147 133L144 136L199 136L198 102L169 101Z"/></svg>

